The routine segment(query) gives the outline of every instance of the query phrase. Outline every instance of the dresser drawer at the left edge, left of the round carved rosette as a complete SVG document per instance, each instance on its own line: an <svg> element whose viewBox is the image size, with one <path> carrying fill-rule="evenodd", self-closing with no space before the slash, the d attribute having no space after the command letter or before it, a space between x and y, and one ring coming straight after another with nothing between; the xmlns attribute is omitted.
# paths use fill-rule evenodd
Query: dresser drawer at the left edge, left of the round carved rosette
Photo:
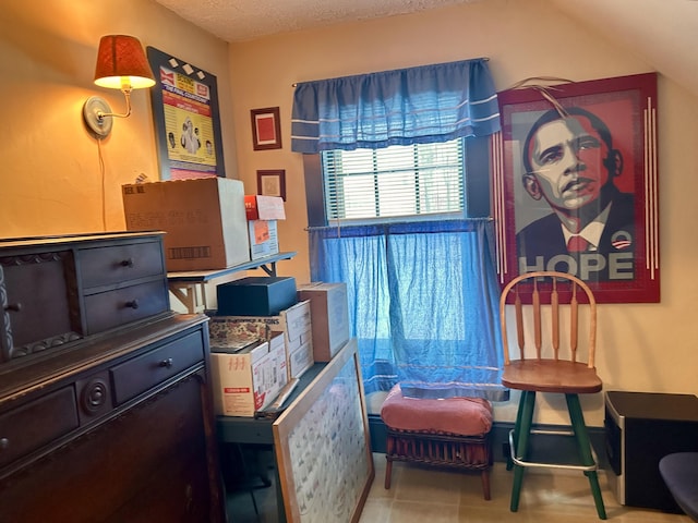
<svg viewBox="0 0 698 523"><path fill-rule="evenodd" d="M0 414L0 466L70 433L77 425L72 386Z"/></svg>

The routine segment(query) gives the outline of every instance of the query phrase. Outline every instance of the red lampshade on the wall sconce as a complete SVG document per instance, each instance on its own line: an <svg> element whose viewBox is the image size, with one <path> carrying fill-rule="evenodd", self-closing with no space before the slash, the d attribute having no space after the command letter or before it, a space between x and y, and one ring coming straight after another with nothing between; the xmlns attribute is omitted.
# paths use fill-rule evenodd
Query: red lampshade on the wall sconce
<svg viewBox="0 0 698 523"><path fill-rule="evenodd" d="M128 35L103 36L97 52L95 84L112 89L154 86L155 76L141 41Z"/></svg>

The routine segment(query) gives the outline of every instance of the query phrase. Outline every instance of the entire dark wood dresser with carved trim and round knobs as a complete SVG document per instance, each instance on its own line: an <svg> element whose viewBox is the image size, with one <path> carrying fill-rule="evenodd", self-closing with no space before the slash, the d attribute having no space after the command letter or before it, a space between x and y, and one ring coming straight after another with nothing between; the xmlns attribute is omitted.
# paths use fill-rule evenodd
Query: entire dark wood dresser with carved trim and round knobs
<svg viewBox="0 0 698 523"><path fill-rule="evenodd" d="M163 233L0 240L0 523L226 521L208 324Z"/></svg>

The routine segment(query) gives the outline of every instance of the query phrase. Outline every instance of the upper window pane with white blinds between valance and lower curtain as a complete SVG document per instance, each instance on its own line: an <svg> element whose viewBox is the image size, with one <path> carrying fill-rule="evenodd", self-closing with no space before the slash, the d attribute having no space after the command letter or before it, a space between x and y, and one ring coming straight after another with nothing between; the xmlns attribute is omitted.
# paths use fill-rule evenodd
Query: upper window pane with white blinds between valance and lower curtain
<svg viewBox="0 0 698 523"><path fill-rule="evenodd" d="M464 210L464 139L322 153L325 211L332 220Z"/></svg>

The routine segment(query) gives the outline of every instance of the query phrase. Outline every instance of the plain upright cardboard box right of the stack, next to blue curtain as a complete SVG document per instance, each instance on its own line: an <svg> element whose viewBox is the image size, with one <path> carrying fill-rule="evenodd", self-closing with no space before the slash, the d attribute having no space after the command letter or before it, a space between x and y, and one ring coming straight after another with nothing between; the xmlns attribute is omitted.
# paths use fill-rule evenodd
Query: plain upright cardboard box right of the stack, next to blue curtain
<svg viewBox="0 0 698 523"><path fill-rule="evenodd" d="M299 300L310 300L313 357L328 362L349 340L346 283L308 283L298 288Z"/></svg>

